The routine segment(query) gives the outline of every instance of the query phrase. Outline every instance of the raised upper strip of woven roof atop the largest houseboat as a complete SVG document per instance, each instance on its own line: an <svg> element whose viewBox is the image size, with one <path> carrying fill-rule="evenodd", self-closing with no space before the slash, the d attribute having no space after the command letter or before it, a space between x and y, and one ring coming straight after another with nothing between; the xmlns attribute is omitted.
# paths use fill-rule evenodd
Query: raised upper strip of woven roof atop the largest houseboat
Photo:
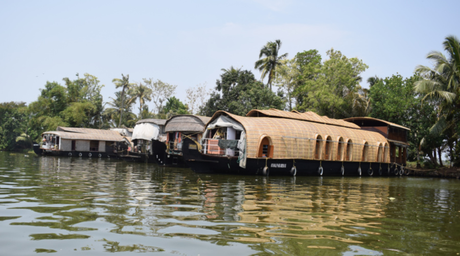
<svg viewBox="0 0 460 256"><path fill-rule="evenodd" d="M246 114L246 116L248 117L266 116L266 117L289 118L289 119L295 119L295 120L304 120L304 121L315 122L315 123L332 124L332 125L337 125L337 126L359 129L359 126L354 123L350 123L350 122L340 120L340 119L332 119L327 116L320 116L311 111L300 113L297 111L287 112L287 111L282 111L282 110L277 110L277 109L251 110L249 111L249 113Z"/></svg>

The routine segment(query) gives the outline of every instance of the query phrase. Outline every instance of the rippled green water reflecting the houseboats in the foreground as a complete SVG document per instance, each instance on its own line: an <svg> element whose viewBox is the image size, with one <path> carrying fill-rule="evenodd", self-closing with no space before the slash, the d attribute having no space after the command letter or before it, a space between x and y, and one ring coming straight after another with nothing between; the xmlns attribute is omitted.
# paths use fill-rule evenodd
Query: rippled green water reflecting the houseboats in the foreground
<svg viewBox="0 0 460 256"><path fill-rule="evenodd" d="M197 175L0 152L2 255L456 255L460 181Z"/></svg>

